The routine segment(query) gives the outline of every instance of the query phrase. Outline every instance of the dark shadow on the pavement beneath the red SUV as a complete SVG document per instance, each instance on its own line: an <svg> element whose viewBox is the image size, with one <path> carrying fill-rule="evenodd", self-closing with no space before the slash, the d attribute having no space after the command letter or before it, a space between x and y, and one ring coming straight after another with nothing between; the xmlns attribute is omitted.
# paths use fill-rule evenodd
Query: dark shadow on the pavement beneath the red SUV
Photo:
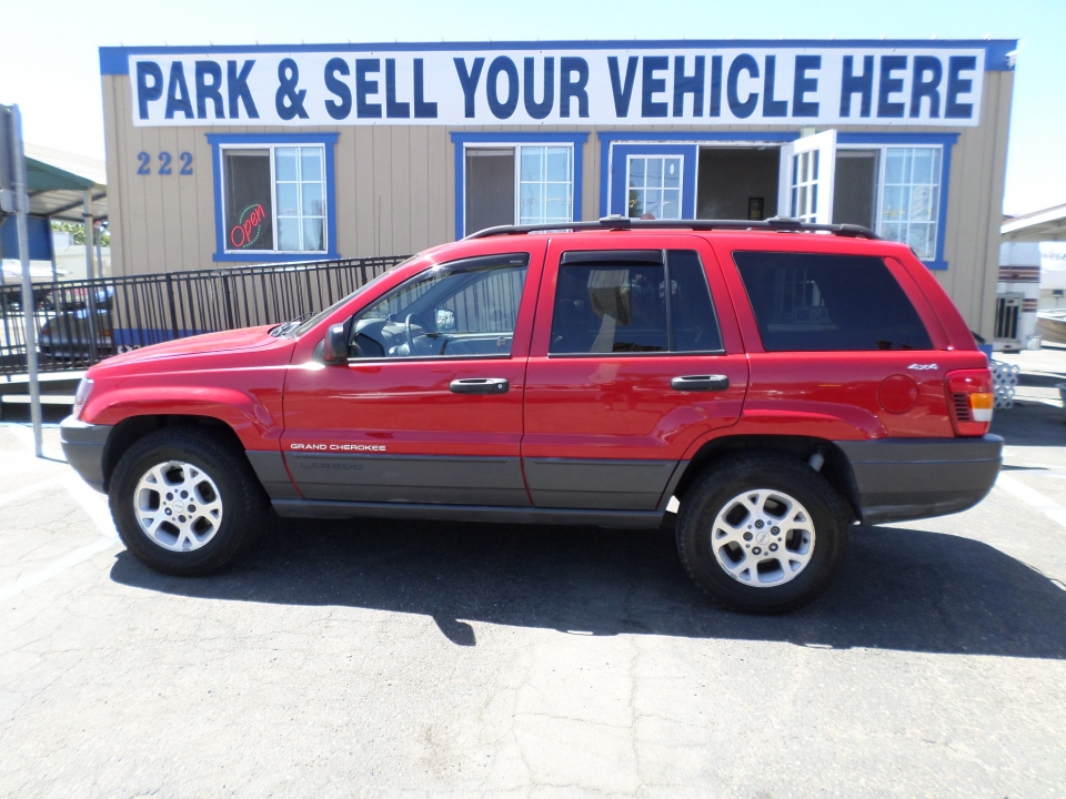
<svg viewBox="0 0 1066 799"><path fill-rule="evenodd" d="M111 577L189 597L335 605L432 617L456 645L467 621L592 635L1066 658L1066 590L969 538L864 527L837 583L792 616L733 614L686 578L668 530L273 519L259 547L202 578L122 553Z"/></svg>

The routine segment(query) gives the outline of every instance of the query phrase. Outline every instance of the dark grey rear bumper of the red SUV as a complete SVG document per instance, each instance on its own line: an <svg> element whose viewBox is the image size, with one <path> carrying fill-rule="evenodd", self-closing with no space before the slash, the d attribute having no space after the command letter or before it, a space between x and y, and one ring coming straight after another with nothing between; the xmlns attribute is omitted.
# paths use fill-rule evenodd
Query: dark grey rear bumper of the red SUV
<svg viewBox="0 0 1066 799"><path fill-rule="evenodd" d="M987 496L1003 463L1003 438L886 438L836 442L855 475L864 524L958 513Z"/></svg>

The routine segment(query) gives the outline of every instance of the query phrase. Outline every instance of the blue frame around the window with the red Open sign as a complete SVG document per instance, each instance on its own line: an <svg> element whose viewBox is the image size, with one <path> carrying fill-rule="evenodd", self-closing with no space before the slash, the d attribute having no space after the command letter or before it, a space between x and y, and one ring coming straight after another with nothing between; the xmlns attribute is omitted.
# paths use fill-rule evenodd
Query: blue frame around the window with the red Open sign
<svg viewBox="0 0 1066 799"><path fill-rule="evenodd" d="M254 254L225 252L225 222L222 219L222 149L221 144L322 144L325 146L325 198L326 198L326 252L316 256L332 260L340 257L336 251L336 190L334 149L339 133L208 133L211 145L211 164L214 170L214 253L215 263L288 263L302 253Z"/></svg>

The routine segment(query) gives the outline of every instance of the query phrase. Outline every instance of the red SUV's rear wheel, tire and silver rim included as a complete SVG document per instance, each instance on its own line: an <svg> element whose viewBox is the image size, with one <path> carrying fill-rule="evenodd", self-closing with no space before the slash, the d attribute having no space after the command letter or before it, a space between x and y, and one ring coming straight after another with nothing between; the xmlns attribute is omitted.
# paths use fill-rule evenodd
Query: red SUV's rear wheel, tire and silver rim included
<svg viewBox="0 0 1066 799"><path fill-rule="evenodd" d="M817 599L839 570L851 513L822 475L775 455L713 467L685 492L677 550L693 581L742 613Z"/></svg>

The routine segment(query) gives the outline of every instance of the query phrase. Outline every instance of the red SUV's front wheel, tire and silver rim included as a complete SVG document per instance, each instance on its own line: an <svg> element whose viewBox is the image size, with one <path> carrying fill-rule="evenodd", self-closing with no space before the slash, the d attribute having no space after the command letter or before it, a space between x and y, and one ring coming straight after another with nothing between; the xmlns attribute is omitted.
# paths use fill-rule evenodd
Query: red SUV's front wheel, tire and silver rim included
<svg viewBox="0 0 1066 799"><path fill-rule="evenodd" d="M169 428L131 446L109 492L127 548L170 575L205 575L251 547L266 502L244 457L198 431Z"/></svg>

